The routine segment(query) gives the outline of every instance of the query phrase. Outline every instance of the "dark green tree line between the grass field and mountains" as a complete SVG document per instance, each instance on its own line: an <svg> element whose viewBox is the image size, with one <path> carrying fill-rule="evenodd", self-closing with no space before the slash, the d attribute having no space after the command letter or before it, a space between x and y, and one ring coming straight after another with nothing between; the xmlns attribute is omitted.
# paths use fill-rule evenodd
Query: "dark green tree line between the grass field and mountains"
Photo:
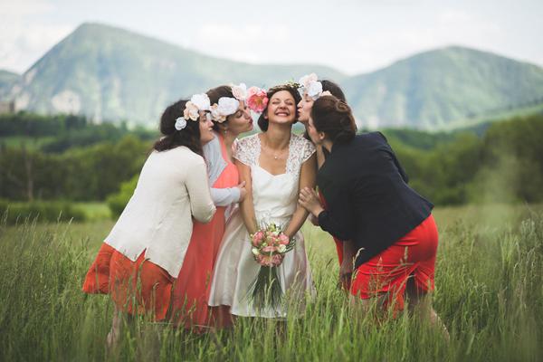
<svg viewBox="0 0 543 362"><path fill-rule="evenodd" d="M410 185L435 205L543 202L542 114L494 122L482 135L408 129L383 133ZM92 135L91 141L81 142L81 134ZM30 148L10 145L7 140L13 137L52 139ZM0 199L104 201L110 196L119 212L152 138L156 132L92 125L76 116L0 117ZM61 139L64 146L52 151L51 145Z"/></svg>

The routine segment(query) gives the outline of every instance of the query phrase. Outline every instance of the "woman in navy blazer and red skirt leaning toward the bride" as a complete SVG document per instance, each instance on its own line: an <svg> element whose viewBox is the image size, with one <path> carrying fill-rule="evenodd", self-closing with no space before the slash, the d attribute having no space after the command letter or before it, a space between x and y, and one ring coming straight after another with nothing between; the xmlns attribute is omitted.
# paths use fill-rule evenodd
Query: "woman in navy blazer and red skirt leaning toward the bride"
<svg viewBox="0 0 543 362"><path fill-rule="evenodd" d="M317 176L327 208L309 188L300 191L300 205L319 219L323 230L354 243L351 294L366 307L377 297L383 305L402 310L407 286L413 291L410 304L424 305L427 316L440 322L431 304L421 303L433 291L438 233L432 203L407 185L407 175L383 134L356 135L344 101L333 96L316 100L308 133L329 151Z"/></svg>

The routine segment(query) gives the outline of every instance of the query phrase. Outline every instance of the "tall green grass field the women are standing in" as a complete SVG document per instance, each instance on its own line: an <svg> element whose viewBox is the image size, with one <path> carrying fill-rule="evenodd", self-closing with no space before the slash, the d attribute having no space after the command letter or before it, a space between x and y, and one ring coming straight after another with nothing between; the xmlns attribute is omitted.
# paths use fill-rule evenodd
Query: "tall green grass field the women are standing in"
<svg viewBox="0 0 543 362"><path fill-rule="evenodd" d="M110 300L81 293L113 222L0 224L0 360L542 360L543 207L465 206L434 215L433 306L449 343L407 313L377 322L350 308L337 289L331 238L305 225L318 296L303 318L282 329L274 320L241 319L232 331L205 335L138 319L115 353L105 348Z"/></svg>

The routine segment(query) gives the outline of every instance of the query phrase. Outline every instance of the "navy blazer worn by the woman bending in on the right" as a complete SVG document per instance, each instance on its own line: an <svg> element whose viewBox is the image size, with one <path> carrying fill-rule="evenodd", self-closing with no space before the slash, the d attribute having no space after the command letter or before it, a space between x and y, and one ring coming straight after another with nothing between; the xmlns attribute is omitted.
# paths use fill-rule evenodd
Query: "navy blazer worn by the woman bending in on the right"
<svg viewBox="0 0 543 362"><path fill-rule="evenodd" d="M381 132L336 143L319 169L317 184L327 209L320 227L352 240L355 267L384 251L421 224L433 205L407 186L407 175Z"/></svg>

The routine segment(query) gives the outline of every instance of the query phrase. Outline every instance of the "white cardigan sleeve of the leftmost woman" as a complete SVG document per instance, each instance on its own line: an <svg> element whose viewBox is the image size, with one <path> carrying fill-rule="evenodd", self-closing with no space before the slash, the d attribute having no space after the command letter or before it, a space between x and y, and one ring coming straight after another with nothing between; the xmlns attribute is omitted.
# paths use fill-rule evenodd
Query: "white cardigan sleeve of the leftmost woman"
<svg viewBox="0 0 543 362"><path fill-rule="evenodd" d="M190 208L195 219L208 223L214 215L215 206L209 191L205 162L195 163L186 175L186 190L190 200Z"/></svg>

